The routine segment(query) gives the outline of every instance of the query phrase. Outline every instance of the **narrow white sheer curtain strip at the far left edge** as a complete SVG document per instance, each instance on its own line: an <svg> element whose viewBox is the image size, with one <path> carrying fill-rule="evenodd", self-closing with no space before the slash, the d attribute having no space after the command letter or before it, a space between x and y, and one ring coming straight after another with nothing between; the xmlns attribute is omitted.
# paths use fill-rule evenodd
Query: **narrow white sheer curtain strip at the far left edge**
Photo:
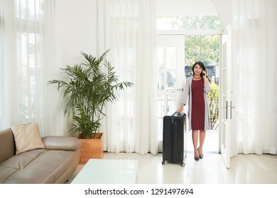
<svg viewBox="0 0 277 198"><path fill-rule="evenodd" d="M9 127L11 119L16 119L11 116L13 105L11 105L10 98L14 98L16 95L16 89L14 84L14 77L8 76L14 74L16 59L16 27L15 27L15 3L13 1L0 0L1 3L1 78L0 78L0 128L4 129ZM13 65L13 66L12 66ZM17 114L18 115L18 114Z"/></svg>

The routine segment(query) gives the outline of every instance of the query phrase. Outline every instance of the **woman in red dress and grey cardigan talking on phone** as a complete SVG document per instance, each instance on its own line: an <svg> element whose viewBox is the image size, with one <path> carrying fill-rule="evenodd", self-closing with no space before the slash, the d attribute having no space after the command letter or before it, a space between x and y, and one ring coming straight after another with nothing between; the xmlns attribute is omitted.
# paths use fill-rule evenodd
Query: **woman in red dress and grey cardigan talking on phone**
<svg viewBox="0 0 277 198"><path fill-rule="evenodd" d="M203 144L206 130L210 129L210 104L207 93L210 91L210 79L207 77L205 65L195 62L192 66L193 76L185 81L182 103L177 112L182 112L188 100L189 129L192 130L192 143L195 148L195 161L203 158ZM200 146L198 146L198 133Z"/></svg>

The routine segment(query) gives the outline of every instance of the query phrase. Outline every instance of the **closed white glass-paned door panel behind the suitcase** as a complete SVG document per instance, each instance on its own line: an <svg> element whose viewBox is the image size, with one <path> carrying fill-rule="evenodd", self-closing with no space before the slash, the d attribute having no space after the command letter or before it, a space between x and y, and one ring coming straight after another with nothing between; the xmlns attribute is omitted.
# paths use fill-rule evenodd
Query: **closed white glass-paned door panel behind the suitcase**
<svg viewBox="0 0 277 198"><path fill-rule="evenodd" d="M185 36L157 36L158 140L163 139L163 117L180 107L185 78ZM159 148L160 150L160 148Z"/></svg>

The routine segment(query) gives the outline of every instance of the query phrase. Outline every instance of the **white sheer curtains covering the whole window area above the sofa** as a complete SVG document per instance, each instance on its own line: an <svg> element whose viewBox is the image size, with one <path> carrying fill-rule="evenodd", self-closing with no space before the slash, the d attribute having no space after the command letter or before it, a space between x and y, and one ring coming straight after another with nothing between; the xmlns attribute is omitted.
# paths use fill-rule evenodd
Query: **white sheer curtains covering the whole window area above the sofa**
<svg viewBox="0 0 277 198"><path fill-rule="evenodd" d="M48 76L55 59L54 0L0 0L0 128L38 122L48 134Z"/></svg>

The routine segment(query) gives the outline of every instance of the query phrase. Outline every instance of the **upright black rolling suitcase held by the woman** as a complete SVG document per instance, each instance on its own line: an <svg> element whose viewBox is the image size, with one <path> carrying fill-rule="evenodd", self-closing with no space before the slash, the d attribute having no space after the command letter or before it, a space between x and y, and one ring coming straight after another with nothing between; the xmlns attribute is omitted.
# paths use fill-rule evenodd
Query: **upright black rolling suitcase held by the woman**
<svg viewBox="0 0 277 198"><path fill-rule="evenodd" d="M163 117L163 162L179 163L185 166L184 137L185 113L178 112Z"/></svg>

